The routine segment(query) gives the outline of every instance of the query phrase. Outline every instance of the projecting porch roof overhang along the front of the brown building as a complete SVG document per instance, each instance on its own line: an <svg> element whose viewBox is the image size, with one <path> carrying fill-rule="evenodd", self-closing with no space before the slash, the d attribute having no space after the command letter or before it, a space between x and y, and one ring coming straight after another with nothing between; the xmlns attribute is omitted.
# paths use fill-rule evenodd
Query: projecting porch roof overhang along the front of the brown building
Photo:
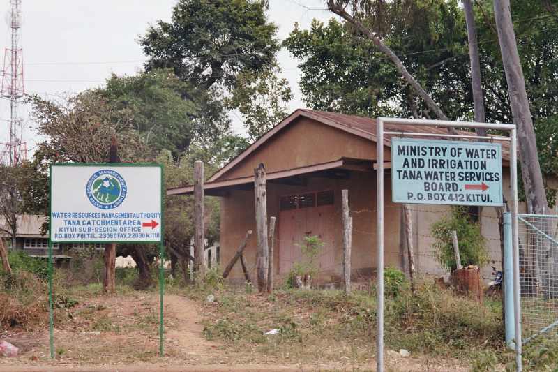
<svg viewBox="0 0 558 372"><path fill-rule="evenodd" d="M326 170L342 169L342 170L354 170L360 172L372 171L372 161L365 159L352 159L352 158L340 158L336 161L330 161L327 163L312 164L306 167L293 168L289 170L280 170L278 172L269 172L266 174L267 181L273 181L277 179L286 179L289 177L301 176L303 174L312 174L316 172L322 172ZM227 188L234 188L235 186L250 185L254 183L254 176L241 177L236 179L224 179L223 181L209 181L204 184L204 191L207 195L217 195L215 192L219 190L225 190ZM188 195L194 192L194 186L183 186L177 188L169 188L167 190L167 195Z"/></svg>

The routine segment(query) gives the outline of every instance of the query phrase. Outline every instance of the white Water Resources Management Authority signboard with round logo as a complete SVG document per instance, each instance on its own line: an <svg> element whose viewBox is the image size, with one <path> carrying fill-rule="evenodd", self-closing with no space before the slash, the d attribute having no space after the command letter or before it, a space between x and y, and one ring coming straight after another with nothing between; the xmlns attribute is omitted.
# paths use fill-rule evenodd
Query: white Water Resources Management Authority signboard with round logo
<svg viewBox="0 0 558 372"><path fill-rule="evenodd" d="M160 165L52 165L51 241L161 241L162 177Z"/></svg>

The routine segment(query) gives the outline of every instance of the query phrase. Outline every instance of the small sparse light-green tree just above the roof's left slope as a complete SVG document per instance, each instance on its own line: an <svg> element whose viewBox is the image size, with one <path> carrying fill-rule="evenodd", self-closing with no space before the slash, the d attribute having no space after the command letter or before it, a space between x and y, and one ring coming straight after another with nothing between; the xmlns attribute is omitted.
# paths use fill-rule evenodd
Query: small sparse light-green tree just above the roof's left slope
<svg viewBox="0 0 558 372"><path fill-rule="evenodd" d="M239 73L232 96L225 98L229 109L241 112L252 141L287 117L287 102L293 96L287 79L279 78L278 73L278 66Z"/></svg>

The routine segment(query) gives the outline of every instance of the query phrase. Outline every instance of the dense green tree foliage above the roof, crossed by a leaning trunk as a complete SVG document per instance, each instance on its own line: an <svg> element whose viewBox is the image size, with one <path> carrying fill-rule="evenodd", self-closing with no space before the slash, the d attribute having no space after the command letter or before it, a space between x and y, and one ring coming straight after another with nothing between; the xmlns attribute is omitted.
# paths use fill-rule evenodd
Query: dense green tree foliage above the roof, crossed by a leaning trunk
<svg viewBox="0 0 558 372"><path fill-rule="evenodd" d="M407 72L452 119L467 117L471 101L469 71L463 61L467 35L457 2L387 3L382 22L362 16L397 54ZM389 18L389 19L388 19ZM375 22L375 23L374 23ZM378 36L378 37L379 37ZM295 27L284 42L301 59L301 90L311 107L370 117L436 117L402 80L391 60L350 22L312 22Z"/></svg>

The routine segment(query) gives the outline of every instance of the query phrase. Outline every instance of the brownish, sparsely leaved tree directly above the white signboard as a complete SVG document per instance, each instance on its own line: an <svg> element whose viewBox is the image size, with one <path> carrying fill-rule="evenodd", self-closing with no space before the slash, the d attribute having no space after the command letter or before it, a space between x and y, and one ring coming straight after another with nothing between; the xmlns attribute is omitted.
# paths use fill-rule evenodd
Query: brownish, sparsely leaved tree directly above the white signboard
<svg viewBox="0 0 558 372"><path fill-rule="evenodd" d="M36 161L47 169L52 163L105 163L112 137L119 143L122 161L146 161L152 153L131 126L128 110L117 110L94 91L84 91L59 102L30 96L31 118L38 135Z"/></svg>

